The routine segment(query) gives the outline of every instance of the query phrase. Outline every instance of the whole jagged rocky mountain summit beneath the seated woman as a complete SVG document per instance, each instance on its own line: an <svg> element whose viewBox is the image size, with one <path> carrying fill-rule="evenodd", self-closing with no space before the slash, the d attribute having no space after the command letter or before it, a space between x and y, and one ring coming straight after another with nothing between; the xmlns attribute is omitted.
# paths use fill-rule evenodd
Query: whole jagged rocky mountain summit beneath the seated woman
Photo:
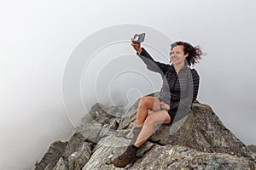
<svg viewBox="0 0 256 170"><path fill-rule="evenodd" d="M137 105L138 101L122 113L117 106L104 108L96 103L71 139L51 144L34 169L256 169L256 155L224 127L210 106L197 101L172 126L155 127L138 150L137 161L114 167L111 160L131 141Z"/></svg>

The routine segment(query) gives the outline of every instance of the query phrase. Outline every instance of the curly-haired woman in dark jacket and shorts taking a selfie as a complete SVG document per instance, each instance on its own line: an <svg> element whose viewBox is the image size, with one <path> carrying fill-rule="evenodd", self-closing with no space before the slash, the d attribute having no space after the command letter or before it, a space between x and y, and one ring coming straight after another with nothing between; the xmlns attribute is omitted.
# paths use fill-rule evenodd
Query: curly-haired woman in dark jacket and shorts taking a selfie
<svg viewBox="0 0 256 170"><path fill-rule="evenodd" d="M133 139L127 150L113 160L116 167L125 167L135 161L137 150L152 135L154 126L170 123L174 118L185 116L195 101L199 88L199 75L190 65L201 59L201 48L193 47L188 42L174 42L171 45L172 65L155 61L148 52L141 48L141 43L133 42L131 46L147 65L148 70L158 72L163 78L160 98L143 97L137 108L137 126L133 129ZM153 111L148 114L148 110Z"/></svg>

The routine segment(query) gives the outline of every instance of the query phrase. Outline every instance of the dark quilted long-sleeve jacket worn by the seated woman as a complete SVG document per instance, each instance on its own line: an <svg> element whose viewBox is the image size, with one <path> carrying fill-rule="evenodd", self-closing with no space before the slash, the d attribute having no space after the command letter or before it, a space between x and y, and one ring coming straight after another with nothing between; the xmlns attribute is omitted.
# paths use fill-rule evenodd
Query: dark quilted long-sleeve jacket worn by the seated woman
<svg viewBox="0 0 256 170"><path fill-rule="evenodd" d="M200 77L197 71L185 65L177 74L173 65L155 61L144 48L137 55L143 59L148 70L160 73L163 79L160 99L169 104L173 111L189 109L198 94Z"/></svg>

